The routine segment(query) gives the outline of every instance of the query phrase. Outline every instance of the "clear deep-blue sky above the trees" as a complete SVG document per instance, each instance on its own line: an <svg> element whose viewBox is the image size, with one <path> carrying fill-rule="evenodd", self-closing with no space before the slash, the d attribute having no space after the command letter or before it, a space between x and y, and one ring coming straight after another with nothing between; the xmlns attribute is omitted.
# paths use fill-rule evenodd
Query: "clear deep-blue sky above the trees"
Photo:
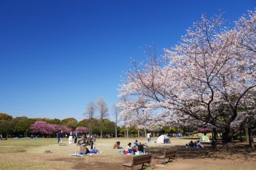
<svg viewBox="0 0 256 170"><path fill-rule="evenodd" d="M76 118L90 101L118 101L120 76L141 48L180 41L202 13L237 20L256 1L0 0L0 112Z"/></svg>

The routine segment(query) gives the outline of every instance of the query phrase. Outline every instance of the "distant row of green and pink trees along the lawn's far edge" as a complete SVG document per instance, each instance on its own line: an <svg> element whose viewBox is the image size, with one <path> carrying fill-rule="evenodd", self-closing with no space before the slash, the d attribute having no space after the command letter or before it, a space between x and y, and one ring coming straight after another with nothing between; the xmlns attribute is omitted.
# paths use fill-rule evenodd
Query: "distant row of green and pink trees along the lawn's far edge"
<svg viewBox="0 0 256 170"><path fill-rule="evenodd" d="M102 130L100 123L103 121ZM118 137L131 137L138 136L138 130L140 136L145 136L143 129L138 129L136 126L131 126L127 128L125 125L122 127L116 126L116 123L108 119L84 119L77 121L75 118L65 118L64 120L59 119L49 119L49 118L27 118L26 116L13 118L11 115L6 113L0 113L0 134L3 137L31 137L40 136L40 137L56 137L56 133L63 130L66 134L70 131L78 131L79 134L89 135L89 128L91 126L91 134L97 135L100 137L102 132L102 137L115 137L117 132ZM150 131L154 134L176 134L177 128L162 127L159 125L160 130ZM180 128L180 132L187 132L186 128Z"/></svg>

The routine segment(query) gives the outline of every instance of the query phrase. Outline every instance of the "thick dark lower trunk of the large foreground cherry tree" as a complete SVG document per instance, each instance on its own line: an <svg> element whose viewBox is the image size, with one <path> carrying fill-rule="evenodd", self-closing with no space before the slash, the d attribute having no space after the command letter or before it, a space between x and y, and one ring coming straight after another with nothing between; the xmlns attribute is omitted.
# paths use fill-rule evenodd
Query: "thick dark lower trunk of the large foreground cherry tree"
<svg viewBox="0 0 256 170"><path fill-rule="evenodd" d="M225 132L222 135L222 151L224 153L231 154L232 153L232 133L230 132L230 128L225 128Z"/></svg>

